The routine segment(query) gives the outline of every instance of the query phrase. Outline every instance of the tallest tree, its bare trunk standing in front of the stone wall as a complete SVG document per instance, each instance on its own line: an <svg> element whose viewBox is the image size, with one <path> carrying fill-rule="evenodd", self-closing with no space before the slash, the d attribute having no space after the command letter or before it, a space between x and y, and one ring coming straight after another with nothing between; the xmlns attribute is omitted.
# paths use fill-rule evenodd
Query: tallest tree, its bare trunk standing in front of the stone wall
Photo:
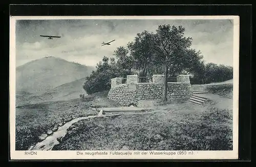
<svg viewBox="0 0 256 167"><path fill-rule="evenodd" d="M175 65L182 57L184 53L190 46L192 38L184 37L185 28L181 25L170 26L170 24L159 25L156 30L155 35L155 45L154 49L157 51L159 59L163 62L165 66L164 71L164 89L163 89L163 101L167 101L167 79L168 72L175 69ZM182 62L180 62L182 63ZM172 67L172 65L174 67ZM172 67L172 69L169 69Z"/></svg>

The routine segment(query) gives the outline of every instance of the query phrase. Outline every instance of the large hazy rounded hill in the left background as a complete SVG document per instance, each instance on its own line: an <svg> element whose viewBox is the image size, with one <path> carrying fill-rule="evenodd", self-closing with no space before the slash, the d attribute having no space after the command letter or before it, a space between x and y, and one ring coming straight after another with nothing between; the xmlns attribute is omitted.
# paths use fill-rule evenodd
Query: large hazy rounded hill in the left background
<svg viewBox="0 0 256 167"><path fill-rule="evenodd" d="M34 60L16 68L16 91L40 95L63 84L85 78L92 70L93 67L55 57Z"/></svg>

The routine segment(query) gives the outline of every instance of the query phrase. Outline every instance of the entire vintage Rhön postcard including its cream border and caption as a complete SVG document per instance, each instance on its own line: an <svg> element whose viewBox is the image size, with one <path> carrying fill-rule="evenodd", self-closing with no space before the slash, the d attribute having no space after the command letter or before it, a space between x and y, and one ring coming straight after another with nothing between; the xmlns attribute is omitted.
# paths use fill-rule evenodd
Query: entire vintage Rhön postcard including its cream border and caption
<svg viewBox="0 0 256 167"><path fill-rule="evenodd" d="M238 159L239 16L10 16L10 154Z"/></svg>

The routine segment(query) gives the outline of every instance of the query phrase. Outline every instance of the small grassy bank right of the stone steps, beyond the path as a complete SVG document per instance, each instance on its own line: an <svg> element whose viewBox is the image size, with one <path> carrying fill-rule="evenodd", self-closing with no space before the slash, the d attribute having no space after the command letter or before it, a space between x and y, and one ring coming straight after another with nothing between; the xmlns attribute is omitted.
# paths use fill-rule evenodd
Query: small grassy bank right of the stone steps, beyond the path
<svg viewBox="0 0 256 167"><path fill-rule="evenodd" d="M217 94L227 98L233 98L233 84L205 85L209 93Z"/></svg>

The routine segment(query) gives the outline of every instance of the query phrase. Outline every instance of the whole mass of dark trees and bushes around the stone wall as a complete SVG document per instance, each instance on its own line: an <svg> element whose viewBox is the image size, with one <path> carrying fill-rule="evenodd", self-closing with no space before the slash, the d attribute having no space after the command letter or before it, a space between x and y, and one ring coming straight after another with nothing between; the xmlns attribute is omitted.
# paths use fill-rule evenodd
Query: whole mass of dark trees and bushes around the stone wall
<svg viewBox="0 0 256 167"><path fill-rule="evenodd" d="M143 31L134 41L118 47L113 55L103 57L87 77L83 89L88 94L110 90L111 79L138 74L141 82L154 74L168 77L189 74L192 84L207 84L232 78L232 67L205 64L200 50L191 48L192 38L184 36L182 26L159 25L156 33ZM142 78L144 77L144 78ZM164 87L166 88L166 87ZM166 90L164 90L165 92ZM166 95L163 92L163 99Z"/></svg>

